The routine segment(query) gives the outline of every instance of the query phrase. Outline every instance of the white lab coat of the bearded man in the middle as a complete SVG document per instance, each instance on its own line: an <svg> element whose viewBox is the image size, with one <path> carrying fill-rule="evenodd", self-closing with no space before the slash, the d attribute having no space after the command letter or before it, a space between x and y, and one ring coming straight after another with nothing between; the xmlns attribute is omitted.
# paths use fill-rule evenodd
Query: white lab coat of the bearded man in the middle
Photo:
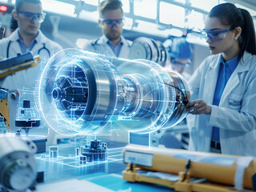
<svg viewBox="0 0 256 192"><path fill-rule="evenodd" d="M121 36L120 38L124 44L121 47L119 58L128 58L132 42L128 41L123 36ZM87 41L86 44L83 46L83 50L89 50L98 54L116 57L116 54L114 53L112 48L108 46L107 42L108 38L103 35L96 40Z"/></svg>

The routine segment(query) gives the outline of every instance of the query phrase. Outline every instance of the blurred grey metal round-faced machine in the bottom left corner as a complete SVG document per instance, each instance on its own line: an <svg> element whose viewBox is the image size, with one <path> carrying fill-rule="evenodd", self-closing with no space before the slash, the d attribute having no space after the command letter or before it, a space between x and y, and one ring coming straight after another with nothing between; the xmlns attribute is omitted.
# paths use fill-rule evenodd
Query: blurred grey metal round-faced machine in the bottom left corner
<svg viewBox="0 0 256 192"><path fill-rule="evenodd" d="M1 191L25 191L35 185L36 146L19 137L0 137Z"/></svg>

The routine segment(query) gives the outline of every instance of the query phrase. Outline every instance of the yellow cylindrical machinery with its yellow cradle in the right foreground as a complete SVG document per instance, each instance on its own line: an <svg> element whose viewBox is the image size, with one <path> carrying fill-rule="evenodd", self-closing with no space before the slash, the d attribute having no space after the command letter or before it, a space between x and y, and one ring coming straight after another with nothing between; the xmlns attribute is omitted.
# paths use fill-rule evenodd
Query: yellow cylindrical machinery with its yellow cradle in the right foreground
<svg viewBox="0 0 256 192"><path fill-rule="evenodd" d="M129 145L124 148L124 163L128 165L124 180L159 184L176 191L255 191L256 187L254 157Z"/></svg>

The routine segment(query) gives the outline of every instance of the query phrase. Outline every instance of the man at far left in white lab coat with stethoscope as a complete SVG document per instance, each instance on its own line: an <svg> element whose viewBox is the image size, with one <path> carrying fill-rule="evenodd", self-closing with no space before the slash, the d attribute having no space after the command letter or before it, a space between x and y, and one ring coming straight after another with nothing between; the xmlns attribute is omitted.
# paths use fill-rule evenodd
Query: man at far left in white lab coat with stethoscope
<svg viewBox="0 0 256 192"><path fill-rule="evenodd" d="M17 0L13 16L18 22L18 29L10 37L3 38L0 41L0 58L12 58L17 54L25 54L27 51L31 51L34 56L39 55L42 62L38 66L0 79L0 86L9 89L9 95L12 96L9 99L11 130L16 129L14 123L17 112L18 90L24 88L35 90L36 82L39 81L47 59L62 50L59 44L46 38L39 30L45 17L40 0Z"/></svg>

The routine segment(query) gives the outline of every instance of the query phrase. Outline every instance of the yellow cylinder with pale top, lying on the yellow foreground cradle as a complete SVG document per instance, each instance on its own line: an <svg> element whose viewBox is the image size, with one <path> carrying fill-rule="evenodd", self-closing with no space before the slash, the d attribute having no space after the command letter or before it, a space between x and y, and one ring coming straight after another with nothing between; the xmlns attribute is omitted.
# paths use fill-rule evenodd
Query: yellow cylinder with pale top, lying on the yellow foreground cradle
<svg viewBox="0 0 256 192"><path fill-rule="evenodd" d="M234 186L234 177L237 170L239 156L223 155L223 154L209 154L188 150L174 150L148 146L130 145L124 148L124 162L131 163L131 154L126 153L135 152L138 154L149 155L148 165L133 163L143 170L161 171L170 174L179 174L180 171L185 171L185 165L190 159L189 172L195 178L207 178L210 182L218 182L226 185ZM128 157L130 155L130 157ZM148 156L148 157L149 157ZM129 162L130 161L130 162ZM142 166L141 166L142 165ZM246 168L243 177L243 186L247 189L252 189L252 176L256 173L256 158L250 162Z"/></svg>

